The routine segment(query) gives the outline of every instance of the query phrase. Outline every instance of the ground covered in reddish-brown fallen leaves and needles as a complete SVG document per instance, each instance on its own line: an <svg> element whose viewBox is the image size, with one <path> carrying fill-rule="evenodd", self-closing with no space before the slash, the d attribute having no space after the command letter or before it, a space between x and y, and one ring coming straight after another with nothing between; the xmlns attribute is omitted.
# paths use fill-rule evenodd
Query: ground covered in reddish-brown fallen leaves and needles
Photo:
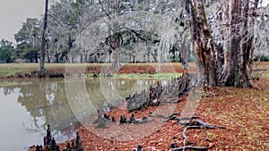
<svg viewBox="0 0 269 151"><path fill-rule="evenodd" d="M175 65L175 64L174 64ZM263 64L263 68L264 68ZM268 64L267 64L268 65ZM268 67L265 65L266 67ZM90 69L90 68L89 68ZM92 68L93 69L93 68ZM143 68L139 65L128 67L124 73L139 73ZM165 68L163 68L165 69ZM175 68L179 69L179 68ZM268 68L267 68L268 69ZM163 72L170 70L170 67ZM177 71L176 70L176 71ZM60 71L56 69L56 71ZM143 71L145 71L143 69ZM175 71L175 70L172 70ZM177 71L182 72L182 71ZM255 88L212 88L203 90L203 95L195 115L200 120L226 127L226 129L187 130L187 142L197 147L208 147L208 150L269 150L269 77L268 71L260 80L253 81ZM171 105L160 105L167 108L173 106L169 113L182 113L187 105L186 96L178 97L178 102ZM148 115L149 111L157 112L159 107L134 112L135 118ZM168 115L169 113L165 113ZM119 121L120 115L127 119L132 113L122 108L113 108L109 116ZM157 122L158 121L158 122ZM147 122L143 124L108 124L106 129L94 129L91 122L82 124L78 130L84 150L133 150L141 144L143 150L169 150L170 144L184 146L182 132L185 129L176 121ZM119 130L120 132L115 132ZM134 135L125 135L125 134ZM67 142L60 143L61 150Z"/></svg>

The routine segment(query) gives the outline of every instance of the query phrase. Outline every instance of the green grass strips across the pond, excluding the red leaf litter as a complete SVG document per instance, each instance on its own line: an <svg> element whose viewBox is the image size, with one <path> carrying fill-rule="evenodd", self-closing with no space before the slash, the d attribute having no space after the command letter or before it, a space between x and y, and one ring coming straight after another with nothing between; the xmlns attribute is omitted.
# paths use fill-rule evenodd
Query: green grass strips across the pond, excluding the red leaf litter
<svg viewBox="0 0 269 151"><path fill-rule="evenodd" d="M138 67L138 66L153 66L157 67L158 63L122 63L122 66L129 66L129 67ZM180 68L180 63L161 63L161 66L174 66L175 68ZM189 63L190 66L194 66L194 63ZM59 70L66 70L68 68L86 68L86 67L110 67L111 63L46 63L46 69L59 69ZM267 69L262 74L261 78L269 79L269 62L264 63L257 63L253 66L254 69ZM0 78L4 78L10 76L15 73L28 73L30 71L39 70L39 63L0 63ZM178 73L157 73L154 75L149 74L121 74L115 75L114 77L117 78L155 78L155 79L165 79L171 77L178 77ZM86 77L91 78L92 75L85 75Z"/></svg>

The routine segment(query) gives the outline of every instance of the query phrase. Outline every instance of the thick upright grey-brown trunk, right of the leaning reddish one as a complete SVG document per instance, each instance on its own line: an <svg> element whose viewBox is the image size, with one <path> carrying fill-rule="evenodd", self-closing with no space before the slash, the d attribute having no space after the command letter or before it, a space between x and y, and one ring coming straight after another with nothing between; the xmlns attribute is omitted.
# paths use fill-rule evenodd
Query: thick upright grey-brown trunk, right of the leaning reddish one
<svg viewBox="0 0 269 151"><path fill-rule="evenodd" d="M221 75L225 86L247 88L252 87L247 64L250 48L248 37L248 7L249 1L233 0L230 2L230 49L228 67ZM241 10L244 5L244 10ZM241 28L241 29L240 29ZM242 34L241 34L242 33ZM251 40L251 38L249 38ZM249 40L248 39L248 40Z"/></svg>

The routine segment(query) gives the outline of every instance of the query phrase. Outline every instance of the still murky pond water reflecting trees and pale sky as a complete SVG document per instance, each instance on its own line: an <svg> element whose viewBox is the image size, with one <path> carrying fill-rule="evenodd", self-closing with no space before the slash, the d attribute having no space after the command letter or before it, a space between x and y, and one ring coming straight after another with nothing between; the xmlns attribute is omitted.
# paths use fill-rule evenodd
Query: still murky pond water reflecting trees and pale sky
<svg viewBox="0 0 269 151"><path fill-rule="evenodd" d="M0 82L0 151L42 145L47 124L56 142L74 138L83 119L97 109L108 110L106 106L156 83L123 79Z"/></svg>

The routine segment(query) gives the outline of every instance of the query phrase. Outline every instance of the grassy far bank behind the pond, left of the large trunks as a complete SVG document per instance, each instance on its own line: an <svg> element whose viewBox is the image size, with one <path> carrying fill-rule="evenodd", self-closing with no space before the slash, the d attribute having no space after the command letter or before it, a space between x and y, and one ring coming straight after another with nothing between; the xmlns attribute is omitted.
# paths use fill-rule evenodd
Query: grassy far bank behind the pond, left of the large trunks
<svg viewBox="0 0 269 151"><path fill-rule="evenodd" d="M121 70L126 73L134 73L134 71L141 71L142 68L151 68L155 71L158 68L158 63L122 63ZM194 67L193 63L190 63ZM111 63L46 63L48 71L72 71L74 73L83 73L94 70L110 68ZM5 78L16 73L29 73L30 71L39 70L39 63L1 63L0 64L0 78ZM161 63L160 72L182 72L180 63Z"/></svg>

